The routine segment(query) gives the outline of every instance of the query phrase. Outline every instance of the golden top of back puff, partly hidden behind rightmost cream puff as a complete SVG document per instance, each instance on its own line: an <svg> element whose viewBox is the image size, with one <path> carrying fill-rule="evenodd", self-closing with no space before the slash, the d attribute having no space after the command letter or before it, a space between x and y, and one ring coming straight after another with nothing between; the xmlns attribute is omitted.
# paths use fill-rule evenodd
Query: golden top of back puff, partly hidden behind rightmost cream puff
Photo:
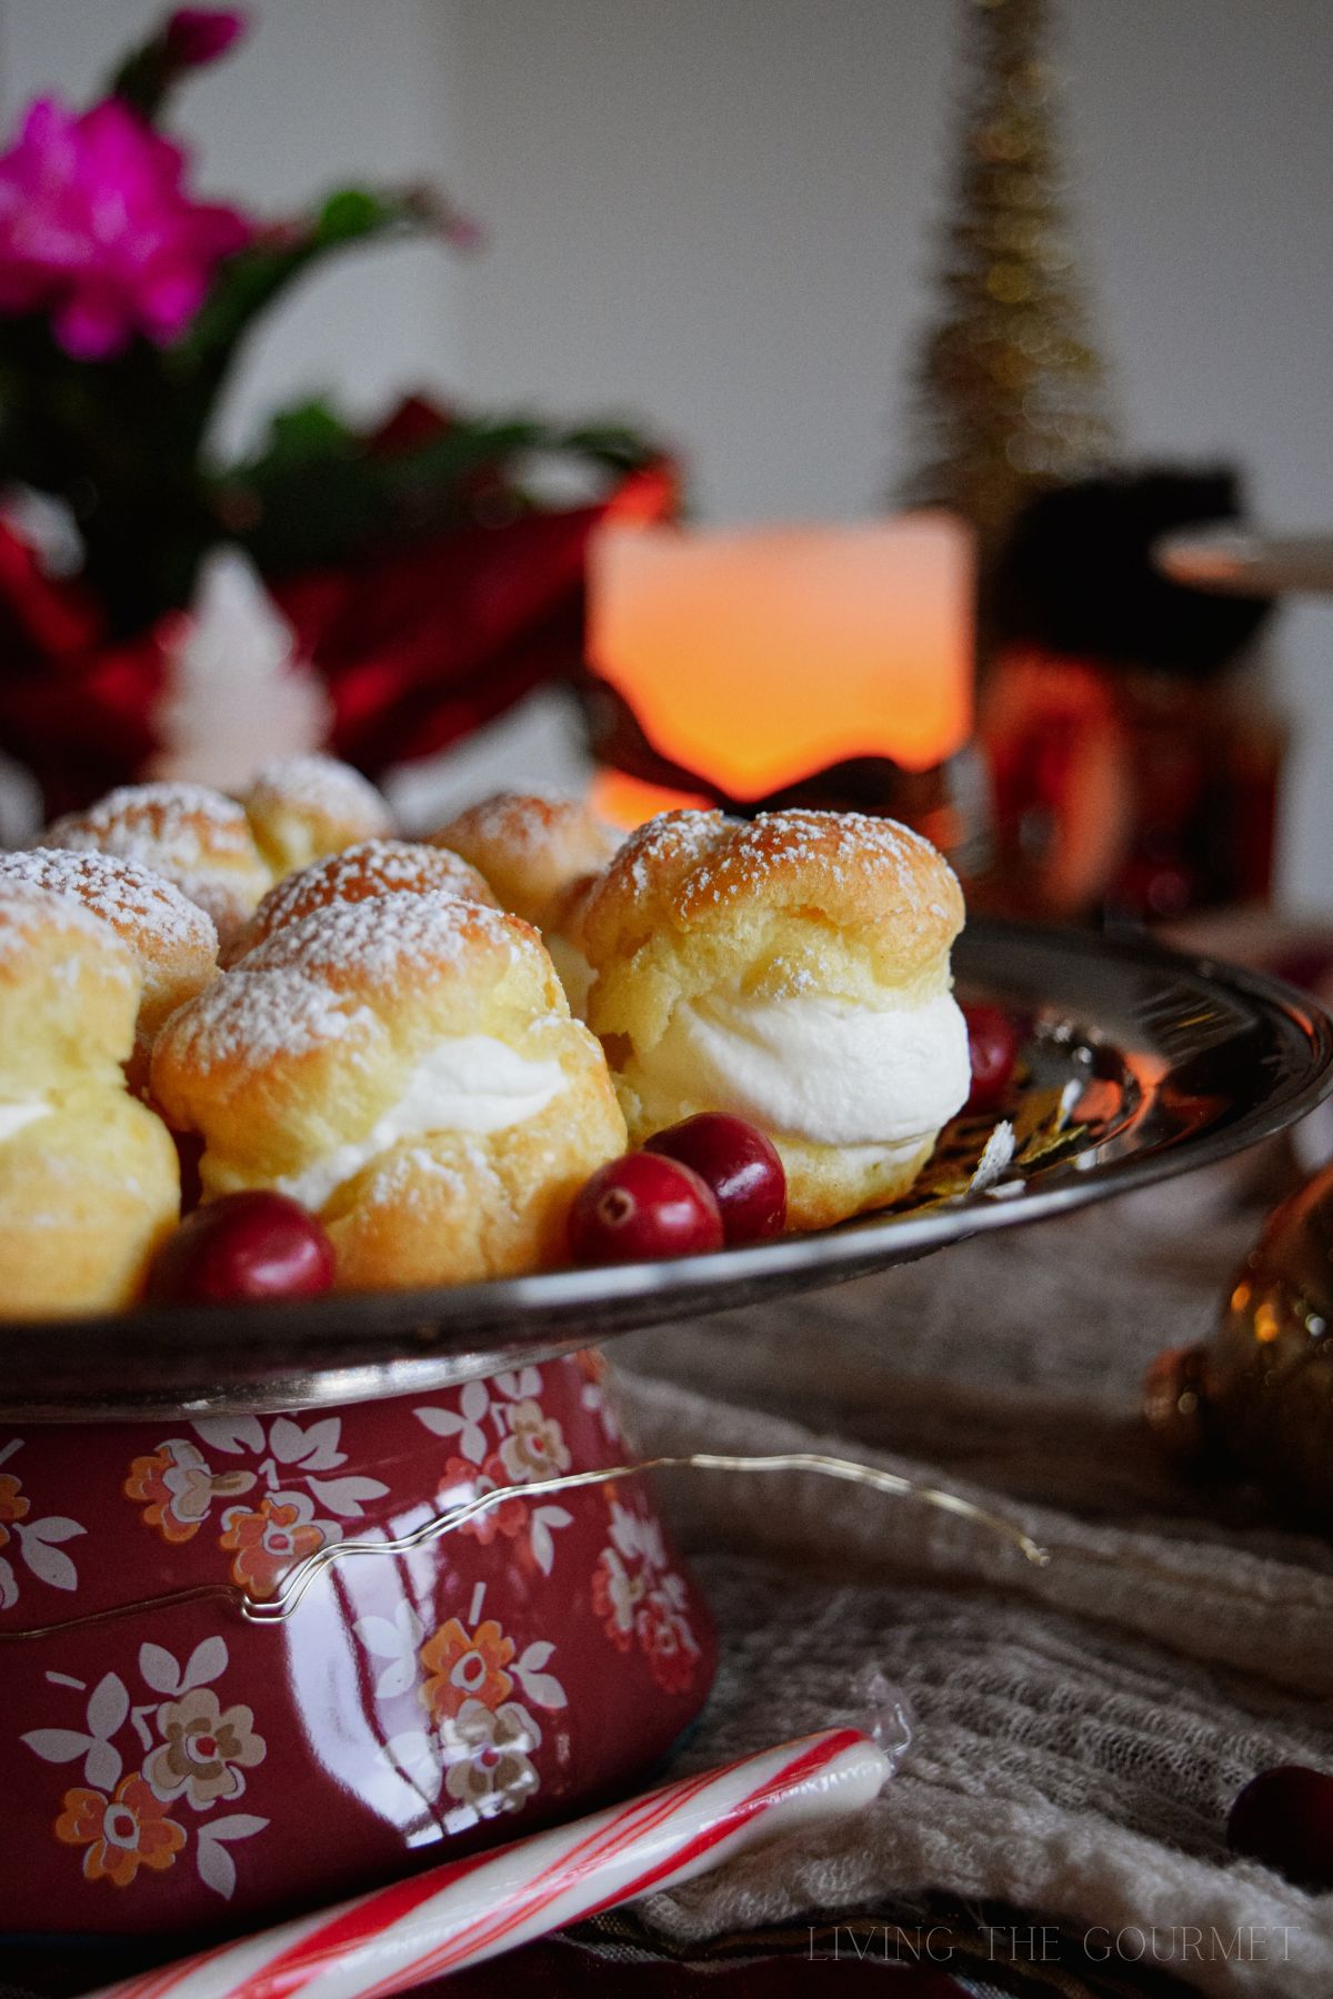
<svg viewBox="0 0 1333 1999"><path fill-rule="evenodd" d="M430 844L480 868L502 908L556 930L570 894L606 868L620 836L582 798L496 792L446 820Z"/></svg>

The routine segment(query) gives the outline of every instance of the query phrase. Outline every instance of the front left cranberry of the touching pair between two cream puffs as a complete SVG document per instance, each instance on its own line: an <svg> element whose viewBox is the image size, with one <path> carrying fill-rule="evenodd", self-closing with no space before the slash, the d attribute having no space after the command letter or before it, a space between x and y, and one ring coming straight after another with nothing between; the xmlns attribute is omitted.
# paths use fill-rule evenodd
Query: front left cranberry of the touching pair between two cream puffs
<svg viewBox="0 0 1333 1999"><path fill-rule="evenodd" d="M713 1189L679 1159L628 1151L580 1187L570 1209L576 1263L638 1263L721 1249Z"/></svg>

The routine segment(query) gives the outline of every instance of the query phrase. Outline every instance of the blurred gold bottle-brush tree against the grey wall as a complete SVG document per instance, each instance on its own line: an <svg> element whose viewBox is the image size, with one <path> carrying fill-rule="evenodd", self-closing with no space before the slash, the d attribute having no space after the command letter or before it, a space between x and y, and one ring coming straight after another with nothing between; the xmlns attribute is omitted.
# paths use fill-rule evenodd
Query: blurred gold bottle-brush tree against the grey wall
<svg viewBox="0 0 1333 1999"><path fill-rule="evenodd" d="M967 0L961 166L915 370L903 498L945 506L987 554L1045 486L1105 464L1113 424L1061 200L1047 0Z"/></svg>

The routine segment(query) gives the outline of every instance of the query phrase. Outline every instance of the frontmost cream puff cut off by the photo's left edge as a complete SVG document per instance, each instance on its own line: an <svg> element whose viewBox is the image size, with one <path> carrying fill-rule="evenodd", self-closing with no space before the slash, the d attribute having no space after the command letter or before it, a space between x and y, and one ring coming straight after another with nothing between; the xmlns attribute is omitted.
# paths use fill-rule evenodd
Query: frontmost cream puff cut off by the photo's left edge
<svg viewBox="0 0 1333 1999"><path fill-rule="evenodd" d="M170 1131L122 1073L134 952L88 908L0 880L0 1313L114 1311L180 1215Z"/></svg>

